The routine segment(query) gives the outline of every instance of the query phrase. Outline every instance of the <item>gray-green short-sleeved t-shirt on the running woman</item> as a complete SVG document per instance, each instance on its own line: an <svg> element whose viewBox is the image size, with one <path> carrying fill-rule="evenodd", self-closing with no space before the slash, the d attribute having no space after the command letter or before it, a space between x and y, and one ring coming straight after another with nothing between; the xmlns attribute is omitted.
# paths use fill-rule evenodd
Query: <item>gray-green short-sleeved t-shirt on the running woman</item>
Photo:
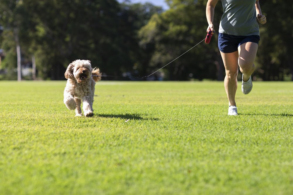
<svg viewBox="0 0 293 195"><path fill-rule="evenodd" d="M237 36L259 35L255 0L222 0L219 32Z"/></svg>

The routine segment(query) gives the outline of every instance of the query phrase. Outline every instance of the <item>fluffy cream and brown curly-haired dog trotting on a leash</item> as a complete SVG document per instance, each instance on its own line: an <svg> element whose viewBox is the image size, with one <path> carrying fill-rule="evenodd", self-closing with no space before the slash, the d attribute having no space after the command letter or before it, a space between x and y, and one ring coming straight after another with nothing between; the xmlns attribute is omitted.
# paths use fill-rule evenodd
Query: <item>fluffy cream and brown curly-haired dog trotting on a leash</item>
<svg viewBox="0 0 293 195"><path fill-rule="evenodd" d="M75 109L76 116L82 116L82 109L85 116L93 116L93 96L95 93L95 81L101 77L91 75L101 75L98 68L92 68L88 60L76 60L71 62L65 72L67 78L64 89L64 103L69 110Z"/></svg>

